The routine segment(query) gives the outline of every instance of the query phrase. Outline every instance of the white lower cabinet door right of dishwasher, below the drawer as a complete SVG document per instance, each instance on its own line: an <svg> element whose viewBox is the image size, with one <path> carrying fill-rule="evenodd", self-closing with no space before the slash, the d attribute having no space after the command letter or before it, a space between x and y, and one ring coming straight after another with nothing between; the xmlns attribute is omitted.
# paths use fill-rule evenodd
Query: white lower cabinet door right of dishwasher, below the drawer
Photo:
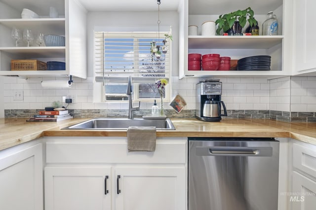
<svg viewBox="0 0 316 210"><path fill-rule="evenodd" d="M316 207L316 181L297 172L292 176L293 195L289 196L292 210L313 210Z"/></svg>

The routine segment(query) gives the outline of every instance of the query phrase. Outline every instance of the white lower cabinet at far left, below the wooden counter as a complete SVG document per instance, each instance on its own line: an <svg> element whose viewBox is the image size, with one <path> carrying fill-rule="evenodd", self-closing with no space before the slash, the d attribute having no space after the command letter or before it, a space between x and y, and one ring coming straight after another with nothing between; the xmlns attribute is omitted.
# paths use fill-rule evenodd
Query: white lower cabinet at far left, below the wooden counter
<svg viewBox="0 0 316 210"><path fill-rule="evenodd" d="M0 209L43 210L42 144L0 151Z"/></svg>

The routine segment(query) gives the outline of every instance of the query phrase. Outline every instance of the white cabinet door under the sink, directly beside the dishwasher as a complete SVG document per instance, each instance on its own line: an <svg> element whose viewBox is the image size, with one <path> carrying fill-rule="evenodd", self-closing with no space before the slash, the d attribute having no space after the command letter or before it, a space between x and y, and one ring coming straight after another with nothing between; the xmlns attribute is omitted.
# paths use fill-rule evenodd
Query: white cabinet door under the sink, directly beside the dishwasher
<svg viewBox="0 0 316 210"><path fill-rule="evenodd" d="M185 167L115 168L116 210L185 210Z"/></svg>

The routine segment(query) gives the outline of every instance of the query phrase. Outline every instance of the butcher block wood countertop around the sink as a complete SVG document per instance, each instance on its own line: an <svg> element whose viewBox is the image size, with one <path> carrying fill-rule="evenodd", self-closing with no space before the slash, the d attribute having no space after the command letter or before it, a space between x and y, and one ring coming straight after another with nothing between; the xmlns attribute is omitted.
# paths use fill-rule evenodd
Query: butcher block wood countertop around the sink
<svg viewBox="0 0 316 210"><path fill-rule="evenodd" d="M89 119L59 122L27 122L0 119L0 150L42 136L126 136L126 130L61 130ZM282 122L267 119L223 119L204 122L194 118L172 118L175 130L157 130L157 137L284 137L316 145L316 122Z"/></svg>

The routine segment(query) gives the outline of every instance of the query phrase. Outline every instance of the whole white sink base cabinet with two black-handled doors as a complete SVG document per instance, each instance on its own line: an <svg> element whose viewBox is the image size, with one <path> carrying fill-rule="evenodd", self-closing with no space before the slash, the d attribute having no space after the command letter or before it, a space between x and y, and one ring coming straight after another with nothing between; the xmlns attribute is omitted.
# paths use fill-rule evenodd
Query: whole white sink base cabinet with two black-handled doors
<svg viewBox="0 0 316 210"><path fill-rule="evenodd" d="M155 152L128 152L126 137L45 137L45 143L46 210L186 209L186 138L158 138Z"/></svg>

